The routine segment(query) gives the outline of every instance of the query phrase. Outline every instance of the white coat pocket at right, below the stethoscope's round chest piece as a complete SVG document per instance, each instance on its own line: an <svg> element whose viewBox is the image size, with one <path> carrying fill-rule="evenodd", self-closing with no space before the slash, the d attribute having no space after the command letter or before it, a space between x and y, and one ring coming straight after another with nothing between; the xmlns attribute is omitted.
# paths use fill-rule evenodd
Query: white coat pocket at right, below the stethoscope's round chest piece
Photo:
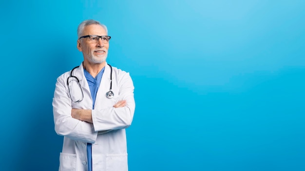
<svg viewBox="0 0 305 171"><path fill-rule="evenodd" d="M127 154L107 154L106 171L128 171Z"/></svg>

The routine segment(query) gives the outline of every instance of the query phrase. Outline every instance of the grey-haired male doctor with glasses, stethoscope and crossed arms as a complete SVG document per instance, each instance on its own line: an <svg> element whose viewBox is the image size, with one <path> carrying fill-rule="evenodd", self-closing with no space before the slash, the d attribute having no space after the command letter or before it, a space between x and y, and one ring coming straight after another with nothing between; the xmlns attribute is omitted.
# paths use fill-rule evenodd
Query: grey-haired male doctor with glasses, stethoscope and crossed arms
<svg viewBox="0 0 305 171"><path fill-rule="evenodd" d="M57 78L53 98L55 131L64 136L59 171L128 171L133 81L106 63L111 37L105 25L85 20L77 35L84 60Z"/></svg>

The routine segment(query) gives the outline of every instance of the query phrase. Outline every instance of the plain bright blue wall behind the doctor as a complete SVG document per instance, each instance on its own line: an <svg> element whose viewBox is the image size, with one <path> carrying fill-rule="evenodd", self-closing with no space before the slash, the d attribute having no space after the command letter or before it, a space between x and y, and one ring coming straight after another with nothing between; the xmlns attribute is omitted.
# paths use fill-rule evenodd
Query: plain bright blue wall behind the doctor
<svg viewBox="0 0 305 171"><path fill-rule="evenodd" d="M130 171L304 171L304 0L0 2L1 171L56 171L57 77L106 24L130 72Z"/></svg>

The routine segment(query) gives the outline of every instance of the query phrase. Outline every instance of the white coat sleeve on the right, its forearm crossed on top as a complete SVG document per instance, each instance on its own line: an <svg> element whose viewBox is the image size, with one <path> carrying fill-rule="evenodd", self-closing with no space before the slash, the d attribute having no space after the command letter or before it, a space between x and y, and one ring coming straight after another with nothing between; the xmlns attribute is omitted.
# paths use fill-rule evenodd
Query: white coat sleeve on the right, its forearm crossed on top
<svg viewBox="0 0 305 171"><path fill-rule="evenodd" d="M127 105L119 108L105 108L92 110L92 120L95 131L124 129L131 125L135 109L133 97L133 81L127 72L121 71L118 75L119 97L118 101L126 100Z"/></svg>

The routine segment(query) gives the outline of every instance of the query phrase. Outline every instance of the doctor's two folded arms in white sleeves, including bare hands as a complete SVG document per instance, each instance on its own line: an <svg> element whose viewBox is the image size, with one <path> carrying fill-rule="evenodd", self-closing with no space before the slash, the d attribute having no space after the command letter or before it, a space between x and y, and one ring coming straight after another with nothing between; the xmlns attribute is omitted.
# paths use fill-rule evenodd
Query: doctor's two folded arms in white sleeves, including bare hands
<svg viewBox="0 0 305 171"><path fill-rule="evenodd" d="M55 131L58 135L94 143L97 135L112 130L125 129L131 125L135 103L133 82L129 74L125 73L120 76L118 99L121 101L112 106L108 104L108 106L93 110L89 109L91 106L89 103L82 104L81 107L76 105L78 107L71 108L73 105L71 106L65 81L64 76L57 78L52 103Z"/></svg>

